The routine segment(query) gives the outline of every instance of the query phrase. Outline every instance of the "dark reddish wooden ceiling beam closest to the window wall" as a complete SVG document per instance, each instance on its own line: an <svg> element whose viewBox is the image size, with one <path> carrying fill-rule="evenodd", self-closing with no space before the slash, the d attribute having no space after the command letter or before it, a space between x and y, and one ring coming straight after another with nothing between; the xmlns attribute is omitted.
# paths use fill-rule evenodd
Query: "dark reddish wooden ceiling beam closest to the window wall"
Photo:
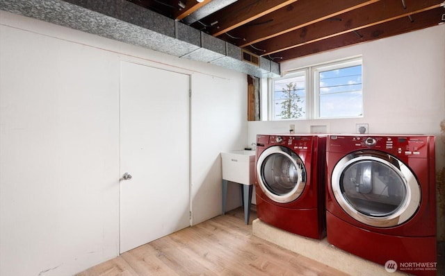
<svg viewBox="0 0 445 276"><path fill-rule="evenodd" d="M408 17L401 17L393 21L387 21L379 25L363 28L357 33L344 33L343 35L330 37L326 40L317 41L311 44L304 44L290 50L275 53L274 58L280 57L281 62L283 62L293 58L300 58L305 55L312 55L315 53L321 53L323 51L338 49L343 46L369 42L371 40L378 40L384 37L391 37L393 35L400 35L402 33L436 26L442 21L443 13L443 8L426 10L424 12L419 12L412 15L413 21L410 21Z"/></svg>

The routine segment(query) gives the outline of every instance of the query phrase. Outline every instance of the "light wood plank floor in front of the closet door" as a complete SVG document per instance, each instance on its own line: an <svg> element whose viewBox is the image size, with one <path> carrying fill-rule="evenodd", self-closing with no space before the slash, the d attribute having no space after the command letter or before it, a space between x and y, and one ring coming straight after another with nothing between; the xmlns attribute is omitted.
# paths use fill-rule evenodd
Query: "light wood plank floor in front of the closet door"
<svg viewBox="0 0 445 276"><path fill-rule="evenodd" d="M96 275L346 275L252 236L235 209L123 253L77 276ZM252 219L256 213L252 212Z"/></svg>

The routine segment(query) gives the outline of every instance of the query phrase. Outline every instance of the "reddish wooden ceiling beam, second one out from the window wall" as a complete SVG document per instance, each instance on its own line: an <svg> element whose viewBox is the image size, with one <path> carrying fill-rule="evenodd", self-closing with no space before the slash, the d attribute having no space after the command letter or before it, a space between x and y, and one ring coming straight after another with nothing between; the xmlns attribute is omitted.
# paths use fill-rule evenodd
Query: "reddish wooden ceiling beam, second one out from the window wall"
<svg viewBox="0 0 445 276"><path fill-rule="evenodd" d="M258 55L270 55L280 51L296 48L304 44L326 40L330 37L343 35L351 31L359 31L378 24L392 21L401 17L414 15L425 10L439 8L442 0L405 0L406 8L402 3L392 0L382 0L369 6L346 12L337 17L330 18L305 26L296 31L274 37L255 44L255 48L264 51L253 51Z"/></svg>

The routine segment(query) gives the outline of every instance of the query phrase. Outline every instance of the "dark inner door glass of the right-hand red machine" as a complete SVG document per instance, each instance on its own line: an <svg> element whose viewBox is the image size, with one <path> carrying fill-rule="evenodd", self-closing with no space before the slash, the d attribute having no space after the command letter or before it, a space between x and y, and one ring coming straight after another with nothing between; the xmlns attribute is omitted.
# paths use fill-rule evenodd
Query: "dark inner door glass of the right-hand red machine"
<svg viewBox="0 0 445 276"><path fill-rule="evenodd" d="M364 160L350 164L340 181L343 197L366 216L390 216L406 201L405 182L381 162Z"/></svg>

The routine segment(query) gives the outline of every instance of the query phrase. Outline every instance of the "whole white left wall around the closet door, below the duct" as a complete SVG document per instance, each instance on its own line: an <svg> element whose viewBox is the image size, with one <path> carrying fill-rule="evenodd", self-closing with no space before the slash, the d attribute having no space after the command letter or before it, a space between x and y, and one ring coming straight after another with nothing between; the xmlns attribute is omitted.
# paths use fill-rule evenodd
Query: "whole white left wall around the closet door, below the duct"
<svg viewBox="0 0 445 276"><path fill-rule="evenodd" d="M120 60L191 75L193 223L220 214L219 154L247 141L245 74L0 11L0 275L118 255Z"/></svg>

